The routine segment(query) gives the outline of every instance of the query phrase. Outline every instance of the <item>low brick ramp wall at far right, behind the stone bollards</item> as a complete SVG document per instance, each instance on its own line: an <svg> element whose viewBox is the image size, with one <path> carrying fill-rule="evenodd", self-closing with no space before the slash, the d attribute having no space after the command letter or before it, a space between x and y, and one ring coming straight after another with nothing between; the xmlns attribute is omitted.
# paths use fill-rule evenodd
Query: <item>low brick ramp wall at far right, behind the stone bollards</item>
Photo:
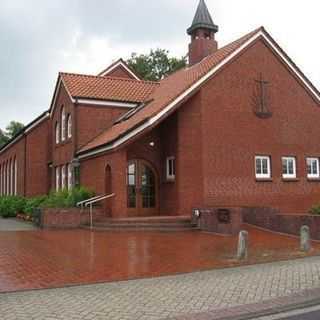
<svg viewBox="0 0 320 320"><path fill-rule="evenodd" d="M310 228L311 238L320 240L320 216L280 214L279 211L271 208L245 208L243 222L292 235L300 235L300 228L306 225Z"/></svg>

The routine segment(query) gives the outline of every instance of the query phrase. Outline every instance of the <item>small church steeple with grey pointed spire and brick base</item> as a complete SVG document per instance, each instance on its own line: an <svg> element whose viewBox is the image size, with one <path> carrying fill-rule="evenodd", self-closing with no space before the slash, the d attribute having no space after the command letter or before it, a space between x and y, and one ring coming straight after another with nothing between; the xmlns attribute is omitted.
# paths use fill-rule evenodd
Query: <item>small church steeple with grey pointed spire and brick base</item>
<svg viewBox="0 0 320 320"><path fill-rule="evenodd" d="M189 64L200 62L218 49L215 33L219 27L214 24L204 0L200 0L197 12L187 33L191 36Z"/></svg>

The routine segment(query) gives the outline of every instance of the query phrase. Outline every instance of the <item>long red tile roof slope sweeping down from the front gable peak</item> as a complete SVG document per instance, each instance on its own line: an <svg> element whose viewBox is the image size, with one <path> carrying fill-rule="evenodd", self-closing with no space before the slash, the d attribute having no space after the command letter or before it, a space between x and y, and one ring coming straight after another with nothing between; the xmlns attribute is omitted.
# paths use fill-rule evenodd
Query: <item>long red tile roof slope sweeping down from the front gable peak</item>
<svg viewBox="0 0 320 320"><path fill-rule="evenodd" d="M182 69L160 81L160 85L150 95L150 98L153 99L150 104L138 111L128 120L117 123L111 128L107 129L105 132L89 142L86 146L81 148L79 153L86 153L91 149L111 143L137 127L139 124L143 123L145 120L157 115L166 106L168 106L177 97L188 90L193 84L195 84L210 70L225 60L262 29L263 28L259 28L245 35L239 40L219 49L198 64Z"/></svg>

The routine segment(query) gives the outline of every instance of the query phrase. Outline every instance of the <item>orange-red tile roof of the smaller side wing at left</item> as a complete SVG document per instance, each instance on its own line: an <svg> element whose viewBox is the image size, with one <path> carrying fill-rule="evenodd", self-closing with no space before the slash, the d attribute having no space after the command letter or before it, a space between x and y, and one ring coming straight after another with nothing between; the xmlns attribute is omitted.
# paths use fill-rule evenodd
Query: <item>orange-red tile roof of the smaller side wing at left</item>
<svg viewBox="0 0 320 320"><path fill-rule="evenodd" d="M72 98L112 100L121 102L144 102L153 93L157 82L127 78L89 76L60 73Z"/></svg>

